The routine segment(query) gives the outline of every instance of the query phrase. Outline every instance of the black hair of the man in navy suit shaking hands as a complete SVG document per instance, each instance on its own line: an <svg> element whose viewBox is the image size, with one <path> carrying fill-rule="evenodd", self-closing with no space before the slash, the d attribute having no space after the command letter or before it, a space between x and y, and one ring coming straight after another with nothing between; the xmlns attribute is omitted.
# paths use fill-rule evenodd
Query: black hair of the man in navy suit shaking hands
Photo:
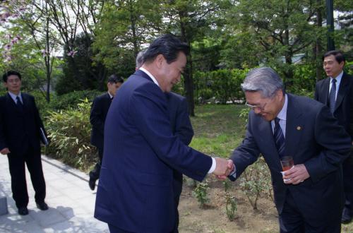
<svg viewBox="0 0 353 233"><path fill-rule="evenodd" d="M183 52L186 56L190 53L190 47L185 42L172 34L164 34L154 40L150 47L143 54L143 61L153 61L156 56L162 54L168 64L177 60L179 52Z"/></svg>

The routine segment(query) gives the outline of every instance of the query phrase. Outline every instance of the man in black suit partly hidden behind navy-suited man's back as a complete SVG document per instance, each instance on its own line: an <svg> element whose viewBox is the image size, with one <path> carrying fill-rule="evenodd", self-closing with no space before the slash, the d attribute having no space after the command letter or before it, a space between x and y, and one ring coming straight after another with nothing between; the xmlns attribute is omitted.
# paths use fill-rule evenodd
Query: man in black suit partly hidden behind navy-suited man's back
<svg viewBox="0 0 353 233"><path fill-rule="evenodd" d="M90 124L92 124L92 131L90 136L90 143L98 150L100 160L96 163L94 169L90 172L90 180L88 184L91 190L95 190L95 181L100 178L100 167L102 165L103 148L104 148L104 122L107 117L107 112L116 90L119 89L124 79L112 74L108 78L107 93L95 97L90 109Z"/></svg>

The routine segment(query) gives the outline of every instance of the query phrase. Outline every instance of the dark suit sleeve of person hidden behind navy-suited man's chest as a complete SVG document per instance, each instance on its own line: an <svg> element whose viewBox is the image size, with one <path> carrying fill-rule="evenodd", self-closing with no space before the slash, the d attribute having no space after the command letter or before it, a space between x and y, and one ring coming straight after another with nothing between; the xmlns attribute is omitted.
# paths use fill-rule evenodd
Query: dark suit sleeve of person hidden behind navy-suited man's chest
<svg viewBox="0 0 353 233"><path fill-rule="evenodd" d="M181 100L177 109L174 132L175 136L177 136L185 145L191 143L193 138L193 126L191 125L188 104L185 98Z"/></svg>

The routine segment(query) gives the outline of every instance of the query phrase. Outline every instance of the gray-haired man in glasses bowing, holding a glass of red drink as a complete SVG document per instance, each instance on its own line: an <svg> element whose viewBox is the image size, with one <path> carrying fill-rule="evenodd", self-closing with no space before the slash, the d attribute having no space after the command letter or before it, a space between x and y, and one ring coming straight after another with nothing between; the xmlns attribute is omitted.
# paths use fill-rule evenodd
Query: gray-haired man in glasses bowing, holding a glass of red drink
<svg viewBox="0 0 353 233"><path fill-rule="evenodd" d="M253 69L241 88L252 110L229 179L261 153L271 172L280 232L340 232L342 161L351 146L345 129L324 104L285 93L272 68ZM293 157L294 167L282 177L285 155Z"/></svg>

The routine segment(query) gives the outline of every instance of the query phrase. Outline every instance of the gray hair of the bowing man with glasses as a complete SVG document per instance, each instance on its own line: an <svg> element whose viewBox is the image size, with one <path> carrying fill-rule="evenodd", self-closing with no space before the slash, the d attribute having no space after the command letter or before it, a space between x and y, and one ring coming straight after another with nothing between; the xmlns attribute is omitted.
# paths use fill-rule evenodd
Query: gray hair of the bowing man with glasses
<svg viewBox="0 0 353 233"><path fill-rule="evenodd" d="M244 83L241 83L244 92L260 91L265 98L273 97L277 90L282 90L285 95L285 87L280 76L270 67L253 68L246 75Z"/></svg>

